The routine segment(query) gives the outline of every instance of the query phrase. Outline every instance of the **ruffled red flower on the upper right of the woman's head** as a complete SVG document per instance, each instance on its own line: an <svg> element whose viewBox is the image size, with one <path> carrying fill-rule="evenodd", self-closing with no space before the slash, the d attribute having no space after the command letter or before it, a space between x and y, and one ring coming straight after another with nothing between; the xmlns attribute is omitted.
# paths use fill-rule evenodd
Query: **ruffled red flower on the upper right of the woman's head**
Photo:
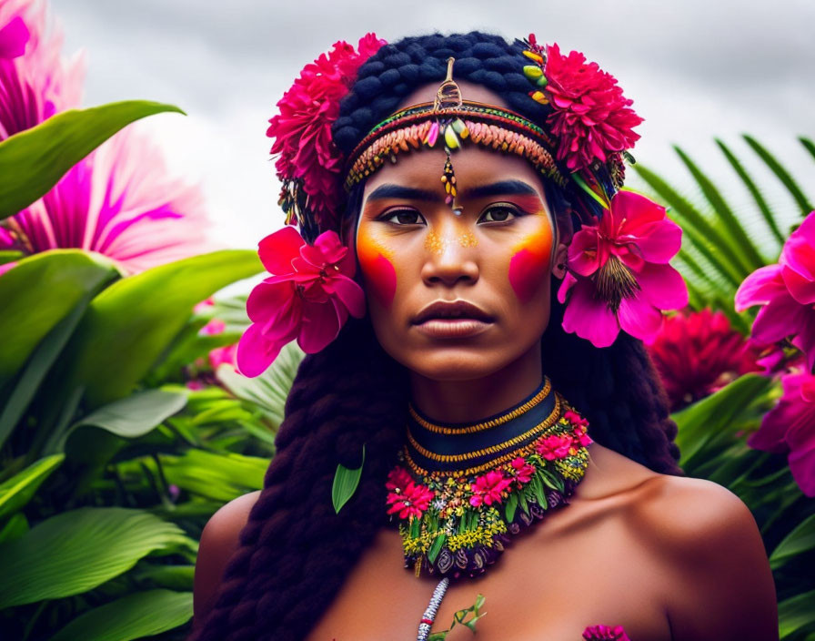
<svg viewBox="0 0 815 641"><path fill-rule="evenodd" d="M639 134L632 127L642 118L614 76L577 51L561 56L558 45L547 47L543 73L555 110L547 122L560 141L558 160L565 158L569 169L588 168L595 159L606 162L609 154L634 146Z"/></svg>

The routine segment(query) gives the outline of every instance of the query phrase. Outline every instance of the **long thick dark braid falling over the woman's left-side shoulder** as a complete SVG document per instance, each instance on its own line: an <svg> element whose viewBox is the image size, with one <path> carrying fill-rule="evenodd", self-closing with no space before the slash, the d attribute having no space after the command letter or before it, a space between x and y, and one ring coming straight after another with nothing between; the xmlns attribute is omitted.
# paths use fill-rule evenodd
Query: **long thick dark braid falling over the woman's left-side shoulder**
<svg viewBox="0 0 815 641"><path fill-rule="evenodd" d="M407 384L367 321L351 321L307 356L287 399L264 490L226 567L216 605L190 641L302 639L385 523ZM334 513L337 463L358 467L357 492Z"/></svg>

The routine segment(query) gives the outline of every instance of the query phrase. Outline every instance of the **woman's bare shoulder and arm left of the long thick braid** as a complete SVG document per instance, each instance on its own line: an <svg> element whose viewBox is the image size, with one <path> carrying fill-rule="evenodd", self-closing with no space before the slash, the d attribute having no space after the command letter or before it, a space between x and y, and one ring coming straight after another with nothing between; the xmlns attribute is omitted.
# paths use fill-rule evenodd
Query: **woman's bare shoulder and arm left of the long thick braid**
<svg viewBox="0 0 815 641"><path fill-rule="evenodd" d="M258 490L233 499L210 517L201 533L193 593L194 626L204 620L212 607L226 564L238 547L238 535L259 495Z"/></svg>

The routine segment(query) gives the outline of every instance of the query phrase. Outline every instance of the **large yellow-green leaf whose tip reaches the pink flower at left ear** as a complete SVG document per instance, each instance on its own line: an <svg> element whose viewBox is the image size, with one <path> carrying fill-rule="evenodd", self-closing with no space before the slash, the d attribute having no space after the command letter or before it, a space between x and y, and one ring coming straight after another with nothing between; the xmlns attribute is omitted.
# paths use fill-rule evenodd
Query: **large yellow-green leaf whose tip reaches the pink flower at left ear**
<svg viewBox="0 0 815 641"><path fill-rule="evenodd" d="M263 270L257 252L225 249L119 280L91 302L60 377L95 408L129 394L186 325L197 302Z"/></svg>

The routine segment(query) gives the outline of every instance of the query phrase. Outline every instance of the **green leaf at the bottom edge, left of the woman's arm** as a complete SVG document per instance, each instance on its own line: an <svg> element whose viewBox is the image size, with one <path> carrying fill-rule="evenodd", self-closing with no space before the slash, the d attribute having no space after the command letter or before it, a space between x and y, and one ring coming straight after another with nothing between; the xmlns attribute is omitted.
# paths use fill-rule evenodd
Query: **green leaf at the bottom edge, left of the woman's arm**
<svg viewBox="0 0 815 641"><path fill-rule="evenodd" d="M77 616L49 641L130 641L183 626L193 616L191 592L136 592Z"/></svg>

